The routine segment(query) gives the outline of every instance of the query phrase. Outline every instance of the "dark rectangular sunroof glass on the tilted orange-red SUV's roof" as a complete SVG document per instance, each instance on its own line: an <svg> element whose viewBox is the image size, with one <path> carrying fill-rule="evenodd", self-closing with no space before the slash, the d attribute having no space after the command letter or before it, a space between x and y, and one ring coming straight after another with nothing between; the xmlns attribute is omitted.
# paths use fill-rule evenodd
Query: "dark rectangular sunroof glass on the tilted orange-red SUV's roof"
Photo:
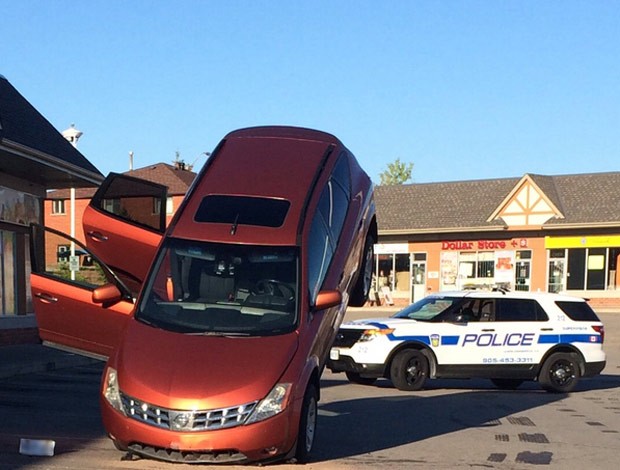
<svg viewBox="0 0 620 470"><path fill-rule="evenodd" d="M246 196L205 196L194 220L223 224L280 227L291 203L284 199Z"/></svg>

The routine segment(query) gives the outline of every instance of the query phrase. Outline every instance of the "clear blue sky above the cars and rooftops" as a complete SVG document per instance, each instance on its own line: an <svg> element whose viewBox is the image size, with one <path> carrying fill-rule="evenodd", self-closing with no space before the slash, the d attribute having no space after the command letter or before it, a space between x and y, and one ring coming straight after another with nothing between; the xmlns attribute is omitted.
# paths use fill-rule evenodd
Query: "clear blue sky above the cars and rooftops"
<svg viewBox="0 0 620 470"><path fill-rule="evenodd" d="M333 133L377 182L620 171L617 1L0 6L0 74L104 174L263 124Z"/></svg>

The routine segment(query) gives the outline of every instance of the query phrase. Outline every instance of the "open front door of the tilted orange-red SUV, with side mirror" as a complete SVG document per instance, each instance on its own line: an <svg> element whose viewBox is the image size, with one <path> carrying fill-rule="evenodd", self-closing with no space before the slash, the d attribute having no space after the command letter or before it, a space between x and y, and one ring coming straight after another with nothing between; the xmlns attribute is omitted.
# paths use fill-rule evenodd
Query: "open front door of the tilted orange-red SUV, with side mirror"
<svg viewBox="0 0 620 470"><path fill-rule="evenodd" d="M134 301L129 289L75 239L31 226L30 282L39 335L49 346L106 358Z"/></svg>

